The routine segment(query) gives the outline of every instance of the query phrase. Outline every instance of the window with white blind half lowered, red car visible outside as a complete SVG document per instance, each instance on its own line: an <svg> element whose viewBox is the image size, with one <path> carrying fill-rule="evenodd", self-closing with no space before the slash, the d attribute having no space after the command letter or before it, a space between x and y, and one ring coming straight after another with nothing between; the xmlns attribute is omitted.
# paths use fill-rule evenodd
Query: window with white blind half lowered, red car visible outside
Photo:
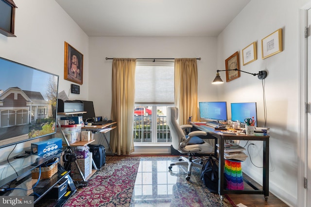
<svg viewBox="0 0 311 207"><path fill-rule="evenodd" d="M138 62L135 74L134 142L170 143L166 111L168 106L173 105L174 63Z"/></svg>

